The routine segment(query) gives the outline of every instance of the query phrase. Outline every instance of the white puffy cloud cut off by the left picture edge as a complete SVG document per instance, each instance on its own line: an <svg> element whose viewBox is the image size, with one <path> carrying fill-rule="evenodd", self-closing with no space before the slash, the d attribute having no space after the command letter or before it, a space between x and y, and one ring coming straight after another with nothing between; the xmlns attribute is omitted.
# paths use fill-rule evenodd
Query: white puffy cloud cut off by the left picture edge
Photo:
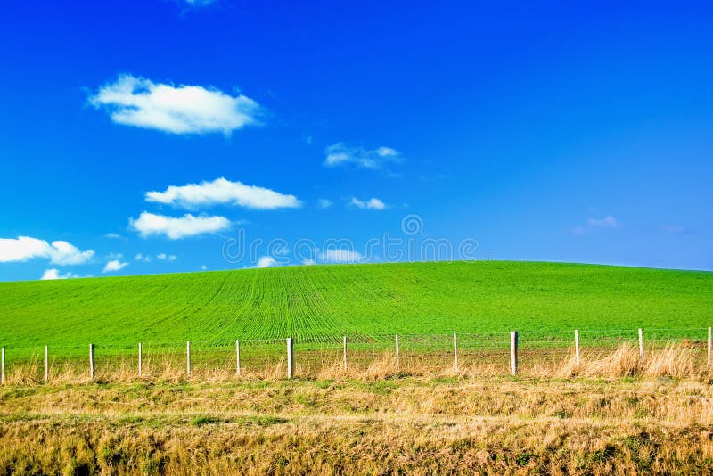
<svg viewBox="0 0 713 476"><path fill-rule="evenodd" d="M70 242L56 241L52 244L29 236L0 238L0 263L49 259L53 265L81 265L94 258L94 250L79 250Z"/></svg>

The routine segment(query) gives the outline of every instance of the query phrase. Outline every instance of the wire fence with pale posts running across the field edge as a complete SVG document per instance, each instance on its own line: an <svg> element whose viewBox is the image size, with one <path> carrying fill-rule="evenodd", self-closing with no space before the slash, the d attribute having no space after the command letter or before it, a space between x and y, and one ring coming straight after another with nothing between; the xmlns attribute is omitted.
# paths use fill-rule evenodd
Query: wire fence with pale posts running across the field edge
<svg viewBox="0 0 713 476"><path fill-rule="evenodd" d="M543 365L561 365L575 354L578 362L594 360L628 345L643 356L672 344L693 351L701 365L710 364L710 328L525 331L512 339L512 332L456 332L297 337L291 346L285 339L7 346L2 348L1 370L3 383L68 376L106 381L288 374L320 378L346 373L463 373L475 368L528 373Z"/></svg>

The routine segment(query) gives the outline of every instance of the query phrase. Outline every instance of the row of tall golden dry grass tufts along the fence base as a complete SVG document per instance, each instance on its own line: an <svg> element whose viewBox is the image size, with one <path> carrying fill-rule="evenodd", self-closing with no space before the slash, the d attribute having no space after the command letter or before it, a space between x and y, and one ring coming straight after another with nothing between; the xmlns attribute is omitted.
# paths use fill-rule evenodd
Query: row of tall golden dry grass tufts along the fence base
<svg viewBox="0 0 713 476"><path fill-rule="evenodd" d="M532 353L534 352L534 353ZM553 349L549 353L532 351L520 357L519 374L525 377L549 378L618 378L634 376L690 377L709 373L705 364L704 350L689 342L668 343L659 349L649 349L643 358L638 348L622 343L610 352L591 349L584 351L580 365L567 349ZM524 354L524 353L523 353ZM295 374L318 379L358 379L375 381L397 375L422 377L474 377L504 375L509 372L507 356L500 353L483 354L463 361L455 368L452 356L419 353L402 356L397 365L392 352L367 355L356 359L350 356L345 369L341 358L324 354L298 355ZM129 357L113 359L110 364L101 363L95 375L97 382L234 382L236 380L281 380L286 374L282 357L266 360L261 365L243 365L240 375L232 359L217 359L193 365L190 376L186 373L183 356L169 355L147 358L143 362L143 375L138 377L136 362ZM12 365L6 372L6 382L11 385L34 385L44 381L44 363L37 359L25 364ZM85 362L62 360L53 362L50 381L55 383L80 383L89 381Z"/></svg>

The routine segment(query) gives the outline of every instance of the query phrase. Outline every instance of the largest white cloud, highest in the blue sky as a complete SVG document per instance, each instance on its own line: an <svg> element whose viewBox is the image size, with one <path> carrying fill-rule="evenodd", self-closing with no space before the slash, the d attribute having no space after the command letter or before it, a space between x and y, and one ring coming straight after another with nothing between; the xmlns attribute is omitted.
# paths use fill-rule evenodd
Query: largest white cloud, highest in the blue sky
<svg viewBox="0 0 713 476"><path fill-rule="evenodd" d="M124 74L89 97L96 109L125 126L158 129L171 134L229 135L258 125L261 107L247 96L231 96L215 88L173 86Z"/></svg>

